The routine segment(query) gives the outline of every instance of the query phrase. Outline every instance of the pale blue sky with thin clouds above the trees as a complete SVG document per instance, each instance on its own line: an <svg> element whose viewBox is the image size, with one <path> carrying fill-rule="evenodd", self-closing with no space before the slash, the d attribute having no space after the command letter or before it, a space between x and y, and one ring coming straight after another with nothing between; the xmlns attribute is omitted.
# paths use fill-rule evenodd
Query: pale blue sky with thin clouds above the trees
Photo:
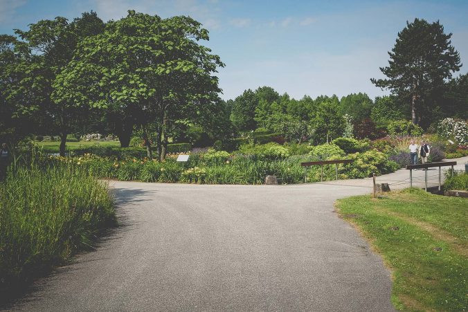
<svg viewBox="0 0 468 312"><path fill-rule="evenodd" d="M225 100L264 85L294 98L386 94L370 77L381 77L398 31L415 17L453 33L465 63L456 75L468 71L468 1L0 0L0 33L89 10L119 19L129 9L201 21L204 44L226 64L218 75Z"/></svg>

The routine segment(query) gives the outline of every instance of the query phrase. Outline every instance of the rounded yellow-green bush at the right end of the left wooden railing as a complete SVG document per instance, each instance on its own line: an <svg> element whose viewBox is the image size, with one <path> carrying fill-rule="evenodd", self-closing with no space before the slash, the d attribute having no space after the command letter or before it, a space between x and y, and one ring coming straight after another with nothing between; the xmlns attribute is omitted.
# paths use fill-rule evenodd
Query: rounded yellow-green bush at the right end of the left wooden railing
<svg viewBox="0 0 468 312"><path fill-rule="evenodd" d="M393 160L389 160L384 153L372 149L364 153L349 154L349 159L354 160L350 164L341 167L340 172L343 173L343 178L367 178L372 176L372 173L380 176L388 174L399 169L400 165Z"/></svg>

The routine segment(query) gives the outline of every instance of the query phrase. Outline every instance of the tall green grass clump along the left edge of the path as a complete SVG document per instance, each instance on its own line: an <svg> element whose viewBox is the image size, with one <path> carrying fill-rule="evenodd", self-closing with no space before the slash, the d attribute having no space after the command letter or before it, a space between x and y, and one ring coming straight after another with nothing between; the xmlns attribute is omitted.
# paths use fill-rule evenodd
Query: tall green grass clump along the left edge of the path
<svg viewBox="0 0 468 312"><path fill-rule="evenodd" d="M114 218L107 185L79 166L13 165L0 181L0 293L88 248Z"/></svg>

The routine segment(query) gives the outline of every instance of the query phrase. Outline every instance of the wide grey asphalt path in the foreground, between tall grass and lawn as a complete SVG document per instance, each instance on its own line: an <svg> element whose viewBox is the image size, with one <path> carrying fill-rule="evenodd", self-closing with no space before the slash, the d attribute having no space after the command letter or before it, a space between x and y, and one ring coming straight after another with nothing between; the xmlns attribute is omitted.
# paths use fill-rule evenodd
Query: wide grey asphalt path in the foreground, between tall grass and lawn
<svg viewBox="0 0 468 312"><path fill-rule="evenodd" d="M390 272L333 208L370 187L111 187L120 226L12 309L393 310Z"/></svg>

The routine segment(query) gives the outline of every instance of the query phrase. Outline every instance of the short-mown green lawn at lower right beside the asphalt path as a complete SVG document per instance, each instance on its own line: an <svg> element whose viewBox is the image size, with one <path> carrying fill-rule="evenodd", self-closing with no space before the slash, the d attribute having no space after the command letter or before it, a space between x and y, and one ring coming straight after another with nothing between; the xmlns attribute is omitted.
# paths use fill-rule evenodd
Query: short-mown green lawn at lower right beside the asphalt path
<svg viewBox="0 0 468 312"><path fill-rule="evenodd" d="M468 199L408 189L341 199L336 210L393 270L397 309L468 309Z"/></svg>

